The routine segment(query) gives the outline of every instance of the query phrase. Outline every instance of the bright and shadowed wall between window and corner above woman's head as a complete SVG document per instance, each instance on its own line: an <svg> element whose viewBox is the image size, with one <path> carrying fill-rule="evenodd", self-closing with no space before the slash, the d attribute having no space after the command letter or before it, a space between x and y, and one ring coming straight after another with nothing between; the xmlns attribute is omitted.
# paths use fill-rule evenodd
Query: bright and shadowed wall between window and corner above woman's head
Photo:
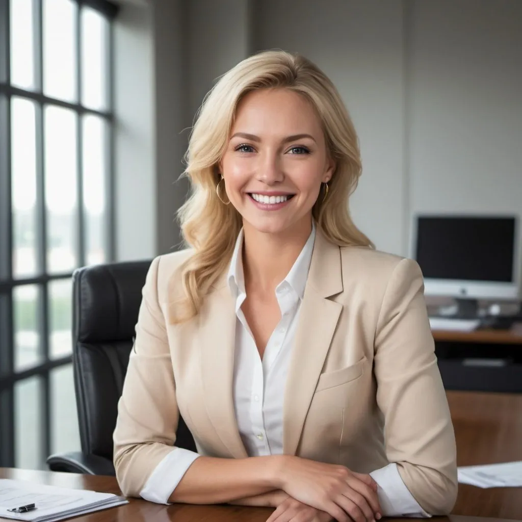
<svg viewBox="0 0 522 522"><path fill-rule="evenodd" d="M216 79L250 49L245 0L120 0L115 27L116 257L180 246L189 129Z"/></svg>

